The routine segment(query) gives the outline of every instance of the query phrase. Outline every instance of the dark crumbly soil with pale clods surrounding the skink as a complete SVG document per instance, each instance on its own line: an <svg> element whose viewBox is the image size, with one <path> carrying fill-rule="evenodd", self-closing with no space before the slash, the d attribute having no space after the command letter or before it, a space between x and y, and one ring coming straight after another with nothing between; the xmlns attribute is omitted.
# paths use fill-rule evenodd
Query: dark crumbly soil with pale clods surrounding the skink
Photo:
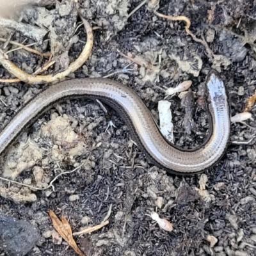
<svg viewBox="0 0 256 256"><path fill-rule="evenodd" d="M195 124L191 134L184 127L186 111L179 97L175 95L168 100L172 103L175 144L184 148L201 145L208 129L202 100L207 72L211 68L220 72L232 116L243 111L246 99L255 91L256 1L160 1L157 11L188 17L191 31L197 38L205 38L214 56L209 56L204 45L186 34L184 22L159 18L148 10L147 4L127 19L127 13L140 2L79 1L82 15L96 27L95 42L92 55L73 77L108 76L127 84L140 95L156 120L157 102L164 98L165 88L191 79L191 90L195 92ZM83 27L76 33L79 40L69 50L72 60L79 56L86 41ZM13 35L13 40L24 39L20 33ZM27 40L26 44L31 42ZM146 65L132 64L124 69L131 61L118 54L117 49ZM9 58L29 73L42 64L38 56L22 49L10 53ZM49 72L54 72L54 68ZM0 67L0 77L6 79L10 74ZM0 83L0 127L46 86ZM108 225L92 234L75 237L85 255L256 255L255 140L249 145L232 144L248 140L255 128L232 124L227 152L205 171L206 177L180 177L148 163L133 143L124 120L113 109L104 107L107 113L92 100L58 104L20 134L19 143L2 157L1 176L17 167L17 156L23 154L24 164L19 169L22 172L15 169L19 173L12 177L40 188L45 188L58 173L85 163L77 172L61 175L54 182L54 191L52 188L34 191L1 183L0 212L27 220L40 230L40 239L28 255L76 255L65 241L53 235L49 209L59 217L64 214L77 232L88 225L99 225L109 208ZM255 116L255 108L251 112ZM110 122L115 126L109 125ZM246 124L256 127L251 120ZM56 126L51 128L52 125ZM27 151L19 148L20 143L35 146L36 149L31 149L35 156L33 163L24 160ZM18 153L13 151L15 148ZM4 164L8 169L4 169ZM156 208L160 218L172 223L172 232L161 230L146 215ZM6 254L0 249L0 255Z"/></svg>

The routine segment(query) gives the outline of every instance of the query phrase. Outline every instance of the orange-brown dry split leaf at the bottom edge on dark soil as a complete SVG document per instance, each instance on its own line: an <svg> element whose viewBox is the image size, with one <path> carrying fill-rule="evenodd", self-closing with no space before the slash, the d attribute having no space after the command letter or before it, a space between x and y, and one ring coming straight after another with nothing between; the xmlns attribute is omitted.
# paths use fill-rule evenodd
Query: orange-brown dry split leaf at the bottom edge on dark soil
<svg viewBox="0 0 256 256"><path fill-rule="evenodd" d="M57 230L57 232L60 234L65 241L74 249L74 251L79 255L79 256L86 256L84 255L83 252L78 248L76 242L73 239L72 236L72 229L65 218L65 216L61 215L61 221L58 219L56 214L53 211L49 211L49 216L51 217L52 220L52 225L53 227Z"/></svg>

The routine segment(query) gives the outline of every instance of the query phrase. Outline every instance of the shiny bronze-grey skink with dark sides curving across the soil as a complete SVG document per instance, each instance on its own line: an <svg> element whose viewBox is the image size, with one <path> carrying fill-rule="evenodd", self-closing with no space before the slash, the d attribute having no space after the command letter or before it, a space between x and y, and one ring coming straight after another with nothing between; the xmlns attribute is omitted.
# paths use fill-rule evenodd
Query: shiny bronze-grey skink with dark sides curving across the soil
<svg viewBox="0 0 256 256"><path fill-rule="evenodd" d="M100 99L114 108L131 130L131 134L152 163L175 174L199 173L220 159L227 147L230 116L227 95L215 72L207 78L209 100L209 137L204 145L182 150L168 143L140 97L124 84L108 79L73 79L54 84L30 100L0 134L0 154L17 139L20 132L51 108L65 99L85 97Z"/></svg>

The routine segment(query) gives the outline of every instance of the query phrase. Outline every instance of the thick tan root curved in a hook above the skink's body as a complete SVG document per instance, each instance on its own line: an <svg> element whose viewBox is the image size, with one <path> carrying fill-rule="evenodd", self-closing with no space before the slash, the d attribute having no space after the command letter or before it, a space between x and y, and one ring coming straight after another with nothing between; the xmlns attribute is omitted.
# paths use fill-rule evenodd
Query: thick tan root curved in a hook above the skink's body
<svg viewBox="0 0 256 256"><path fill-rule="evenodd" d="M19 78L21 81L24 81L25 83L29 84L42 84L42 83L52 83L54 81L58 81L66 76L68 76L70 73L77 70L77 68L81 67L84 62L88 59L90 56L90 53L92 51L93 47L93 32L90 24L83 19L84 28L86 30L87 35L87 42L84 46L83 51L81 52L80 56L75 60L74 62L70 63L68 68L64 70L63 72L60 72L56 75L47 75L47 76L33 76L30 74L27 74L26 72L22 71L20 68L18 68L16 65L12 63L12 61L9 61L5 58L3 52L0 51L0 63L3 65L8 72L13 74L13 76Z"/></svg>

